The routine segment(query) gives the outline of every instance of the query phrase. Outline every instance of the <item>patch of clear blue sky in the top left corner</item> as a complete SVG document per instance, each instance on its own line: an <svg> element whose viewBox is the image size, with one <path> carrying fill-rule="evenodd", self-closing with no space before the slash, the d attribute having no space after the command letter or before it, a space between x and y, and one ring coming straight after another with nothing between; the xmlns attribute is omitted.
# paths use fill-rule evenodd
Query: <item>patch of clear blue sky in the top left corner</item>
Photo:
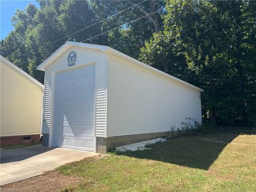
<svg viewBox="0 0 256 192"><path fill-rule="evenodd" d="M15 11L17 9L24 10L29 3L35 4L39 7L38 3L35 1L3 1L0 0L1 6L1 40L5 38L11 30L13 30L13 26L11 23L11 18L13 17Z"/></svg>

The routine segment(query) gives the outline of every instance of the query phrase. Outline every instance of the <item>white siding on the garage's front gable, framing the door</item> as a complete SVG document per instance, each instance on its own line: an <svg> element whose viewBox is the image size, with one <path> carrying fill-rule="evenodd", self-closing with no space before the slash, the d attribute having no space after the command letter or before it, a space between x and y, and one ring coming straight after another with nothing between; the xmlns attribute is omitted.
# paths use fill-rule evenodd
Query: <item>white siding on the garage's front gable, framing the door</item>
<svg viewBox="0 0 256 192"><path fill-rule="evenodd" d="M44 98L44 122L43 122L43 133L50 133L50 119L51 119L51 97L52 97L52 73L54 71L68 70L67 57L70 51L75 51L77 58L75 66L85 65L86 63L95 64L95 94L96 97L99 92L106 92L106 54L102 51L93 49L84 49L81 47L71 47L65 53L63 53L57 60L53 61L50 66L45 70L45 98ZM101 83L103 82L103 83ZM102 104L103 103L103 104ZM95 106L99 103L96 101ZM106 106L105 100L101 100L101 104ZM95 114L98 113L96 108ZM102 110L101 110L102 111ZM101 122L106 121L106 110L102 113ZM95 120L95 136L105 137L105 124L98 126L98 122ZM102 131L103 130L103 131Z"/></svg>

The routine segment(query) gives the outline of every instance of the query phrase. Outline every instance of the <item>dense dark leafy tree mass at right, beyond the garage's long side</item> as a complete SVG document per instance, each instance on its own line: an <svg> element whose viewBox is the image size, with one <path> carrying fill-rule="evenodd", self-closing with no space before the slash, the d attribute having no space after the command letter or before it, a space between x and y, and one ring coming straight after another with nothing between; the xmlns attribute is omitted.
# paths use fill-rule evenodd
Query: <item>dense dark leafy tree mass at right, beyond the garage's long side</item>
<svg viewBox="0 0 256 192"><path fill-rule="evenodd" d="M140 59L202 87L203 115L247 125L256 113L256 3L166 1L164 29Z"/></svg>

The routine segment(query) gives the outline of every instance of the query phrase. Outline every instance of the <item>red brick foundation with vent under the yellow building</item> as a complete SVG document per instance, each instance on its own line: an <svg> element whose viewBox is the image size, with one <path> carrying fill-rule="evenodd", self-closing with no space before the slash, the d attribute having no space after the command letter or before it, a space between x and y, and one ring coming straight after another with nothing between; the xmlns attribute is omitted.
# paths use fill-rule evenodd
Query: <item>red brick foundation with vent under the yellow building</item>
<svg viewBox="0 0 256 192"><path fill-rule="evenodd" d="M30 137L30 140L23 140L24 137ZM1 147L21 144L21 143L39 143L40 135L34 134L34 135L18 135L18 136L0 137L0 142L1 142Z"/></svg>

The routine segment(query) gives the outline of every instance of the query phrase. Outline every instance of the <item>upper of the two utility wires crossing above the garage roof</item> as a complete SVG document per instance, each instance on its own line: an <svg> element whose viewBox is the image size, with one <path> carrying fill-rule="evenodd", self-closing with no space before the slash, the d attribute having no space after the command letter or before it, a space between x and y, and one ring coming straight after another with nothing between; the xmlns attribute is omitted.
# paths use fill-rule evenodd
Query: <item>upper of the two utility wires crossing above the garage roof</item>
<svg viewBox="0 0 256 192"><path fill-rule="evenodd" d="M134 7L134 6L136 6L136 5L139 5L139 4L141 4L141 3L145 2L145 1L147 1L147 0L144 0L144 1L142 1L142 2L139 2L139 3L135 4L135 5L132 5L132 6L128 7L127 9L123 10L123 11L120 11L120 12L114 14L114 15L111 15L111 16L109 16L109 17L107 17L107 18L105 18L105 19L103 19L103 20L101 20L101 21L95 22L95 23L93 23L93 24L90 25L90 26L87 26L87 27L85 27L85 28L83 28L83 29L80 29L80 30L78 30L78 31L76 31L76 32L74 32L74 33L71 33L71 34L69 34L69 35L67 35L67 36L65 36L65 37L62 37L62 38L60 38L60 39L58 39L58 40L56 40L56 41L53 41L53 42L48 43L48 44L46 44L46 45L43 45L43 46L41 46L40 48L45 47L45 46L48 46L48 45L51 45L51 44L53 44L53 43L55 43L55 42L58 42L58 41L60 41L60 40L62 40L62 39L64 39L64 38L67 38L67 37L69 37L69 36L71 36L71 35L77 34L78 32L80 32L80 31L82 31L82 30L84 30L84 29L90 28L90 27L92 27L92 26L94 26L94 25L97 25L97 24L100 23L100 22L103 22L103 21L106 21L107 19L110 19L110 18L112 18L112 17L115 17L116 15L118 15L118 14L120 14L120 13L123 13L124 11L127 11L127 10L131 9L132 7ZM27 53L21 54L21 55L19 55L18 57L15 57L15 58L13 58L13 59L19 58L19 57L21 57L22 55L27 55L28 53L30 53L30 52L32 52L32 51L36 51L36 50L38 50L38 49L39 49L39 47L38 47L37 49L31 50L31 51L29 51L29 52L27 52Z"/></svg>

